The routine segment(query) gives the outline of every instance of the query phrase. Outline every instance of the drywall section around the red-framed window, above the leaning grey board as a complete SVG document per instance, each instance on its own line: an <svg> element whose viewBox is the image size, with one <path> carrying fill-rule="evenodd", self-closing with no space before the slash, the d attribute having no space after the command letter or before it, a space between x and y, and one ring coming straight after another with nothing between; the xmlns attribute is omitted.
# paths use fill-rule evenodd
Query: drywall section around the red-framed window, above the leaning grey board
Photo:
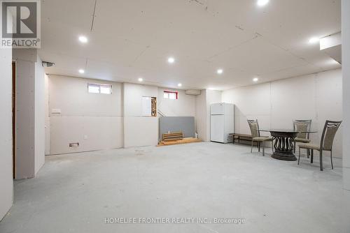
<svg viewBox="0 0 350 233"><path fill-rule="evenodd" d="M178 91L179 99L170 100L164 98L164 91ZM158 110L165 117L195 117L196 97L186 95L183 90L158 88Z"/></svg>

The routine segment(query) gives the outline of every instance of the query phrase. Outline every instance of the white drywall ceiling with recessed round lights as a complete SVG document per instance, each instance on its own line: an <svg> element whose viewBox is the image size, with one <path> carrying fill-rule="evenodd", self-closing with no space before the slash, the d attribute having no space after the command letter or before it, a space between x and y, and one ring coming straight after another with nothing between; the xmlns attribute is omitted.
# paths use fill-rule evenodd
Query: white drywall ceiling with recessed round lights
<svg viewBox="0 0 350 233"><path fill-rule="evenodd" d="M42 9L50 74L223 90L341 67L309 44L341 30L339 0L45 0Z"/></svg>

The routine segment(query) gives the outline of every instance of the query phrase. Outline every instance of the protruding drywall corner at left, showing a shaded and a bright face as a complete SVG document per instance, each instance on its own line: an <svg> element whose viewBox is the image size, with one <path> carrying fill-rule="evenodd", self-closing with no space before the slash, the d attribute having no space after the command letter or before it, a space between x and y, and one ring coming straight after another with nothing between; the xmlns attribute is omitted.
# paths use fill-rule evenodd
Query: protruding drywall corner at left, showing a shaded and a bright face
<svg viewBox="0 0 350 233"><path fill-rule="evenodd" d="M45 162L45 80L34 49L15 49L16 179L34 177Z"/></svg>

